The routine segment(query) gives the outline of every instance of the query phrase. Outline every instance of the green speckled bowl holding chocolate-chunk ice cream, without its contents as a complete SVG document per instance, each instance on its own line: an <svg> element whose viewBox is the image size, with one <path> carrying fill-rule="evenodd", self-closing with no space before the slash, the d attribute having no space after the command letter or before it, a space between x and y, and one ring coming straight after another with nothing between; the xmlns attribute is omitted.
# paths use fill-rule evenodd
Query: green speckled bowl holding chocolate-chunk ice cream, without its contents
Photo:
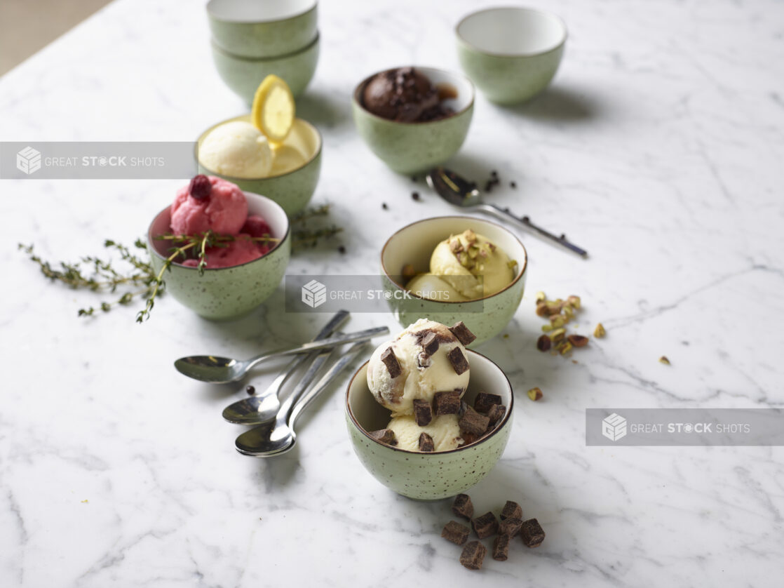
<svg viewBox="0 0 784 588"><path fill-rule="evenodd" d="M417 500L454 496L476 485L501 458L512 431L511 384L503 370L484 355L469 350L468 360L471 377L464 396L466 402L473 405L474 397L481 390L499 394L506 405L506 415L491 434L448 452L409 452L370 437L368 431L387 426L390 412L368 390L367 363L351 379L346 393L346 424L351 445L365 469L397 494Z"/></svg>

